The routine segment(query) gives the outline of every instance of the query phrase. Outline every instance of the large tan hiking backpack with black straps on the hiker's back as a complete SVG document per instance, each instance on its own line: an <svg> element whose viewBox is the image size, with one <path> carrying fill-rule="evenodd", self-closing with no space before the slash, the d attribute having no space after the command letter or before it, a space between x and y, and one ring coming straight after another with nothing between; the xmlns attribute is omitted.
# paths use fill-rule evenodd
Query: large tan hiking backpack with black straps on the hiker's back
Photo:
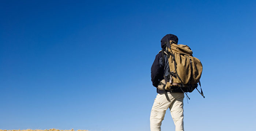
<svg viewBox="0 0 256 131"><path fill-rule="evenodd" d="M167 77L164 75L164 79L160 81L158 89L165 92L167 99L166 90L184 92L187 95L187 92L197 89L197 83L201 88L200 77L203 66L199 59L193 57L190 47L177 45L176 42L170 40L170 46L164 46L161 52L163 65L165 65L164 53L167 55L170 71L169 75ZM199 90L198 92L204 97L202 88L201 92Z"/></svg>

